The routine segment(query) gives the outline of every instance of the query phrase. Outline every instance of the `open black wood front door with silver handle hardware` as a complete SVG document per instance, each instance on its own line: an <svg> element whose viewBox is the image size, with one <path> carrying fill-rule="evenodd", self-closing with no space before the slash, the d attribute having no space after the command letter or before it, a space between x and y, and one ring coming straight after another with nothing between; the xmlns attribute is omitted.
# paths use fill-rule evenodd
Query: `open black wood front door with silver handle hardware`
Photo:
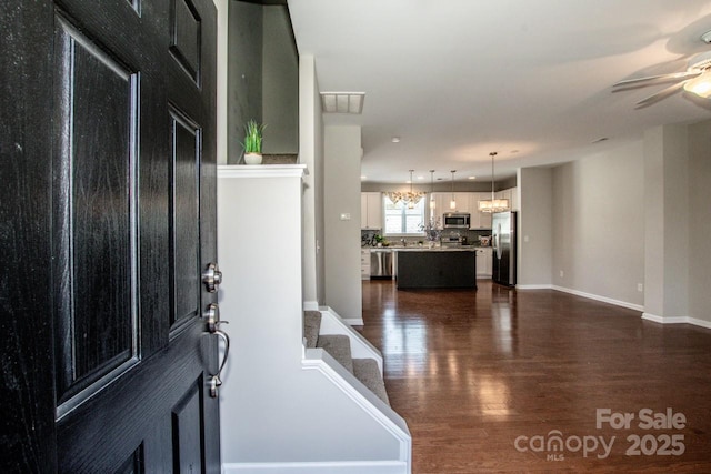
<svg viewBox="0 0 711 474"><path fill-rule="evenodd" d="M219 472L212 0L0 10L0 471Z"/></svg>

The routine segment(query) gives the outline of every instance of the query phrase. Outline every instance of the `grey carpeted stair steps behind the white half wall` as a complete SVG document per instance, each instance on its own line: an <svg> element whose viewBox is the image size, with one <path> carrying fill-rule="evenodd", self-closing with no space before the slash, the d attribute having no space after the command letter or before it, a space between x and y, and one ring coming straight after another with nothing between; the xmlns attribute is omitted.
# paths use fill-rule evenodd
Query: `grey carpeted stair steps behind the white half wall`
<svg viewBox="0 0 711 474"><path fill-rule="evenodd" d="M351 337L344 334L319 334L321 312L306 311L303 315L303 334L307 349L322 349L328 352L343 369L356 376L384 403L390 405L385 383L381 373L381 364L373 357L353 359ZM374 347L373 347L374 349Z"/></svg>

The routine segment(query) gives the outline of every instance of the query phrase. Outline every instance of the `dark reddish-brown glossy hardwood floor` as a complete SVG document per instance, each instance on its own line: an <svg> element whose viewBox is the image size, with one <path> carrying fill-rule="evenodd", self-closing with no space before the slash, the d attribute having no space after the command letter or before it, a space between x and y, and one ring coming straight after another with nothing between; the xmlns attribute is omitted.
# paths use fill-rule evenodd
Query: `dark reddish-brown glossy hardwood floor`
<svg viewBox="0 0 711 474"><path fill-rule="evenodd" d="M382 351L414 474L711 473L711 330L640 316L490 282L363 282L362 333Z"/></svg>

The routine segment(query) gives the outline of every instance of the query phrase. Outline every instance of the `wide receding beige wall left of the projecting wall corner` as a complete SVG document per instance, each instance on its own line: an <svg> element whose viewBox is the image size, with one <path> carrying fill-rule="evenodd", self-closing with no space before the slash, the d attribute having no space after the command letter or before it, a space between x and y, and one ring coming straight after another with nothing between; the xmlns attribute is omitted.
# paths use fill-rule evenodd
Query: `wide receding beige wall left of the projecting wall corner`
<svg viewBox="0 0 711 474"><path fill-rule="evenodd" d="M643 168L635 141L553 169L555 286L642 305Z"/></svg>

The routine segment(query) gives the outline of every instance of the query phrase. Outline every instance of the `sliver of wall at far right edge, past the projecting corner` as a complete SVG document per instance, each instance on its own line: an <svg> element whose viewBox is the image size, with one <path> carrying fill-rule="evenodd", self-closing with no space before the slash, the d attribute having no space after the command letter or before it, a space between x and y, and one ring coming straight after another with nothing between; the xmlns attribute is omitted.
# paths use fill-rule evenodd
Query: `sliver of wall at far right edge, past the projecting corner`
<svg viewBox="0 0 711 474"><path fill-rule="evenodd" d="M689 316L711 324L711 120L689 128Z"/></svg>

